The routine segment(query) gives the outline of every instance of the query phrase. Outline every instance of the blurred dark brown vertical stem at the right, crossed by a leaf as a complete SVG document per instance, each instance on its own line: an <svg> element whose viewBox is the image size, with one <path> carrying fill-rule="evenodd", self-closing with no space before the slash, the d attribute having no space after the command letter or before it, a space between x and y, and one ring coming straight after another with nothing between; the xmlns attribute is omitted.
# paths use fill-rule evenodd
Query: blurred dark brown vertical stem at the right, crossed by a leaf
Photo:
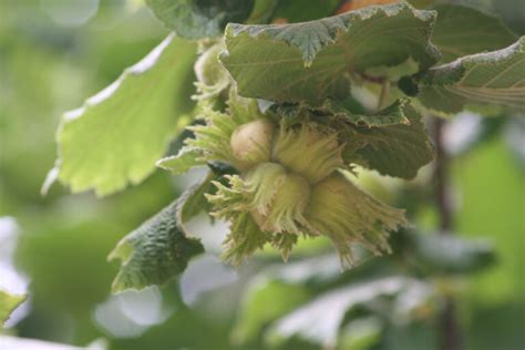
<svg viewBox="0 0 525 350"><path fill-rule="evenodd" d="M441 235L451 235L453 229L452 205L450 197L449 157L443 147L443 126L445 121L434 117L436 202L440 214ZM446 296L440 316L441 349L459 350L462 344L460 326L456 318L455 302Z"/></svg>

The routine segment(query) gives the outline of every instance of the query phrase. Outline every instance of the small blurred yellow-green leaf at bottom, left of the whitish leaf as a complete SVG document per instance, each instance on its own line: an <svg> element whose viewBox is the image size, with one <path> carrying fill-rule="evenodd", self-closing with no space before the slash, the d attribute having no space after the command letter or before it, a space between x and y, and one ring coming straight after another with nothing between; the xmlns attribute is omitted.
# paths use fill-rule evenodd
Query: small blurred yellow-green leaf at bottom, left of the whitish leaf
<svg viewBox="0 0 525 350"><path fill-rule="evenodd" d="M310 296L302 286L255 279L243 297L234 327L234 341L243 344L257 340L266 326L306 302Z"/></svg>

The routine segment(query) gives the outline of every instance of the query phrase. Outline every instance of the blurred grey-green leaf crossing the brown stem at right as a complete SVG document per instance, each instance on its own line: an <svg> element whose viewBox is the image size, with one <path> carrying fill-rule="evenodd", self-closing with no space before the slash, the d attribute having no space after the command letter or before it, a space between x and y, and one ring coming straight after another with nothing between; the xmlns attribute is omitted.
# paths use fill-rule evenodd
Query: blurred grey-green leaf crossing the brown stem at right
<svg viewBox="0 0 525 350"><path fill-rule="evenodd" d="M446 234L413 234L410 249L431 274L472 274L495 260L491 244Z"/></svg>

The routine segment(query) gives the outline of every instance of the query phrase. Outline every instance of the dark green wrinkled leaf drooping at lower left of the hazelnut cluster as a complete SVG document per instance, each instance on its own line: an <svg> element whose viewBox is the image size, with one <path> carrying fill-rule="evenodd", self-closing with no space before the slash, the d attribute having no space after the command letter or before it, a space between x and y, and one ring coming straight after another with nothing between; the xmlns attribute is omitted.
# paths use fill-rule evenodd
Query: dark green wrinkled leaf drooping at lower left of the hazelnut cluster
<svg viewBox="0 0 525 350"><path fill-rule="evenodd" d="M187 219L196 213L193 205L185 208L187 203L192 204L188 198L195 193L199 194L199 188L207 183L205 181L186 191L119 243L109 256L109 260L121 260L121 269L112 286L113 292L162 285L182 274L188 260L204 251L198 239L186 237L182 222L183 217Z"/></svg>

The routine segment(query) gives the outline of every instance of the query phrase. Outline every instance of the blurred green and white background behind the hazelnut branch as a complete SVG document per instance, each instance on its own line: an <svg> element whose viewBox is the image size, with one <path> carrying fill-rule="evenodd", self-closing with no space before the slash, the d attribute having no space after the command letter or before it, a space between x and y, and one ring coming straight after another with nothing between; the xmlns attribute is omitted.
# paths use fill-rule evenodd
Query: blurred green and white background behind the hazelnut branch
<svg viewBox="0 0 525 350"><path fill-rule="evenodd" d="M469 2L525 32L519 0ZM361 172L361 185L406 207L415 223L393 237L401 247L393 256L364 258L340 274L321 240L302 244L287 265L267 250L234 269L217 258L225 224L212 226L202 216L192 227L208 253L192 260L183 277L111 296L117 266L107 254L198 172L172 177L158 171L105 198L71 195L60 185L42 196L40 188L55 159L61 114L113 82L166 34L137 0L0 0L0 288L30 296L0 330L0 349L7 336L126 350L318 349L316 339L330 338L330 319L339 316L339 349L436 349L443 296L456 299L466 349L524 348L523 115L464 113L445 125L455 235L464 240L432 240L432 165L410 183ZM393 285L403 286L387 292L373 284L377 278L400 278ZM344 300L352 292L356 298ZM277 320L312 302L317 309L288 319L302 327L302 338L313 333L309 341L278 327Z"/></svg>

